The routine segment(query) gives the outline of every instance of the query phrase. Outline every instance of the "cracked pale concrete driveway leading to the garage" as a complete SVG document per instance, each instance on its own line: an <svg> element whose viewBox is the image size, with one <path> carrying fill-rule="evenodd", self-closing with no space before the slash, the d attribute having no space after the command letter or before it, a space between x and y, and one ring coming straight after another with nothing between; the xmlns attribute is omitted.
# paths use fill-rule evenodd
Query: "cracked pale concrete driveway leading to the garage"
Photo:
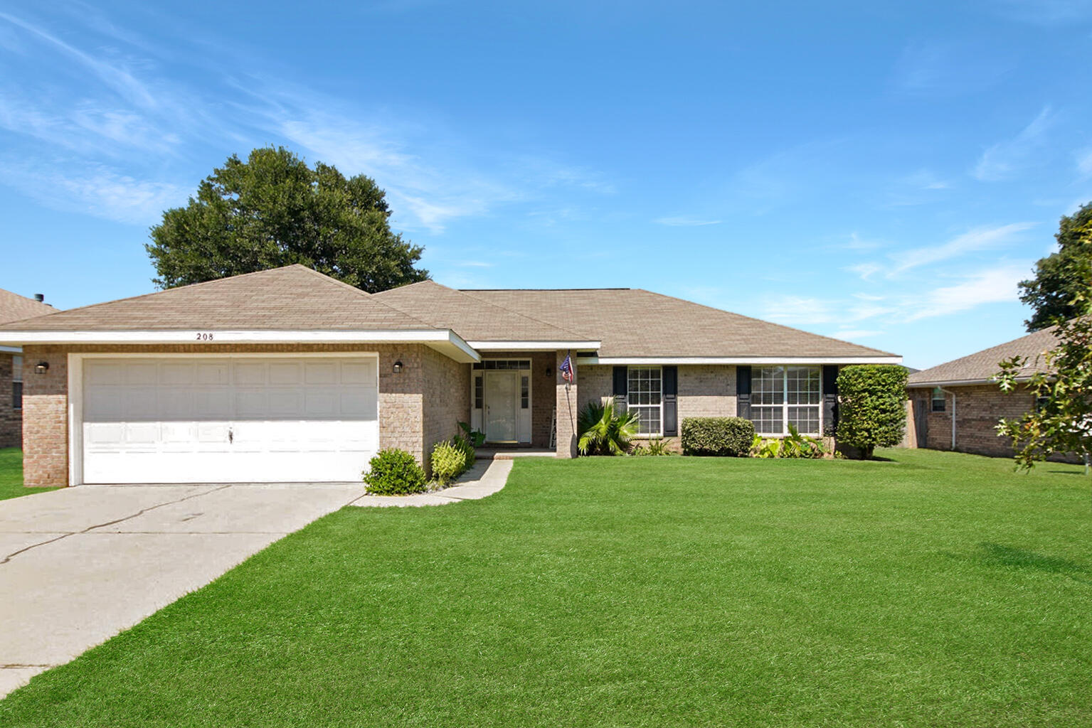
<svg viewBox="0 0 1092 728"><path fill-rule="evenodd" d="M81 486L0 501L0 696L363 494L363 484Z"/></svg>

